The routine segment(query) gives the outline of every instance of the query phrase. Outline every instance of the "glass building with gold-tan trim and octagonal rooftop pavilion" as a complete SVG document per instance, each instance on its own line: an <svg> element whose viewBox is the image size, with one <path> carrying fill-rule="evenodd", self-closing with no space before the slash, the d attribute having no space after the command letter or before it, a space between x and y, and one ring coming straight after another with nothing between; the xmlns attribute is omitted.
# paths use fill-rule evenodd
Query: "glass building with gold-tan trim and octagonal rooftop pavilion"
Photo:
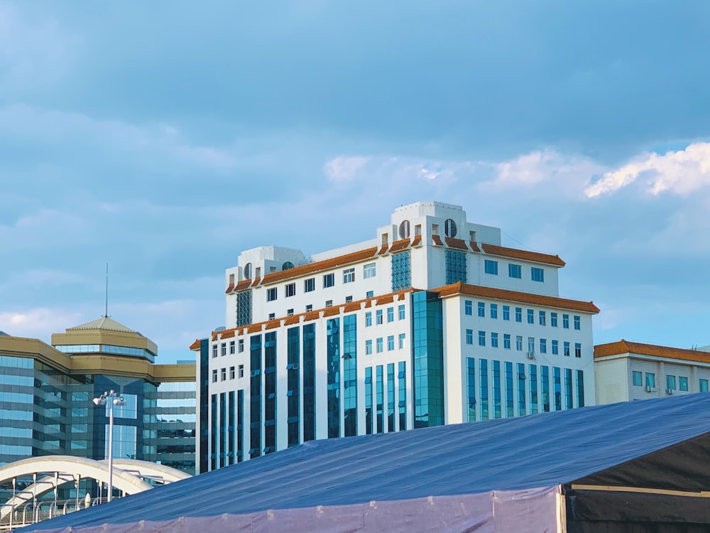
<svg viewBox="0 0 710 533"><path fill-rule="evenodd" d="M155 365L150 339L108 317L38 339L0 335L0 465L33 456L107 457L107 407L121 393L113 453L195 471L195 366Z"/></svg>

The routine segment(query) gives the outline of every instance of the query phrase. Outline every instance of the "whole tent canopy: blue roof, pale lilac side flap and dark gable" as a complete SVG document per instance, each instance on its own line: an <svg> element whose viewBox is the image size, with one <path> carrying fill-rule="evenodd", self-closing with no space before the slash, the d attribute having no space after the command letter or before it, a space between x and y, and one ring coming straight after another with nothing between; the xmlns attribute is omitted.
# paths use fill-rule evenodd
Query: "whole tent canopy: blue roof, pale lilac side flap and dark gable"
<svg viewBox="0 0 710 533"><path fill-rule="evenodd" d="M709 490L709 447L689 394L312 441L26 530L554 531L560 485Z"/></svg>

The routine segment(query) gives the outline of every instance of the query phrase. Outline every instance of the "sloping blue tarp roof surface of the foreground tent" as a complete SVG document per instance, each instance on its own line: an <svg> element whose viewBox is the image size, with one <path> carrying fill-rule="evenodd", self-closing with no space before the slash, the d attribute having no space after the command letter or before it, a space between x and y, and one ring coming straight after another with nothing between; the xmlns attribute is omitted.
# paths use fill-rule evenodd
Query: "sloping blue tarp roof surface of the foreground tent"
<svg viewBox="0 0 710 533"><path fill-rule="evenodd" d="M710 393L312 441L28 529L572 483L710 432Z"/></svg>

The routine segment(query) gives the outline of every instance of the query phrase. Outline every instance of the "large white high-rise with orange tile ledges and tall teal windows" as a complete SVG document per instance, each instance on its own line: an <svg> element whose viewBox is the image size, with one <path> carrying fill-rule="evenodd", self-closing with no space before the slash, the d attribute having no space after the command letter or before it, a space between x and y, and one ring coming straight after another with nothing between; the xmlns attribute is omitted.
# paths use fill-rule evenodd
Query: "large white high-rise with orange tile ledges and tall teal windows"
<svg viewBox="0 0 710 533"><path fill-rule="evenodd" d="M594 404L599 309L559 297L562 266L437 202L312 257L242 252L226 270L226 329L192 345L201 463Z"/></svg>

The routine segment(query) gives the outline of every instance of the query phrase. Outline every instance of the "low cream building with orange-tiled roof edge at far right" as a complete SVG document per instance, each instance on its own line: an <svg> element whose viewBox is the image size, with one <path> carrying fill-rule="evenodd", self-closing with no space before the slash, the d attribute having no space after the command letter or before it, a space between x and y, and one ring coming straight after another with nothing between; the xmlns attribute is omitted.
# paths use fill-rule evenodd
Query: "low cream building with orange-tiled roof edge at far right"
<svg viewBox="0 0 710 533"><path fill-rule="evenodd" d="M652 344L618 343L594 347L596 402L706 392L710 382L710 347L697 350Z"/></svg>

